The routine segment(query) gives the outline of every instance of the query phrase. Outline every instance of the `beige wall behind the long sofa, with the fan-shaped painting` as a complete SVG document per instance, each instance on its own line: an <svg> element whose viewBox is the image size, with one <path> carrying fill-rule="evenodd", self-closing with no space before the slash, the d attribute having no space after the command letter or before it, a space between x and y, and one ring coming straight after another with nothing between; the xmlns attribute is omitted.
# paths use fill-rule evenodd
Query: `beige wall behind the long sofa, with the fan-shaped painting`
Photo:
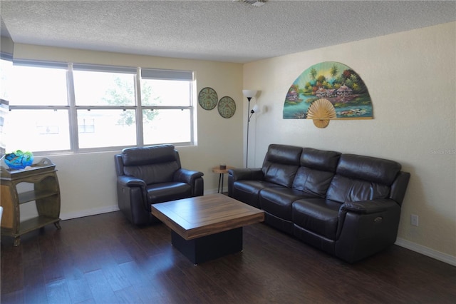
<svg viewBox="0 0 456 304"><path fill-rule="evenodd" d="M267 111L251 123L249 163L269 143L390 158L411 173L398 243L456 265L456 23L381 36L244 65L244 87ZM291 83L322 61L356 71L373 101L372 120L282 119ZM245 126L244 126L245 133ZM419 226L410 226L410 215Z"/></svg>

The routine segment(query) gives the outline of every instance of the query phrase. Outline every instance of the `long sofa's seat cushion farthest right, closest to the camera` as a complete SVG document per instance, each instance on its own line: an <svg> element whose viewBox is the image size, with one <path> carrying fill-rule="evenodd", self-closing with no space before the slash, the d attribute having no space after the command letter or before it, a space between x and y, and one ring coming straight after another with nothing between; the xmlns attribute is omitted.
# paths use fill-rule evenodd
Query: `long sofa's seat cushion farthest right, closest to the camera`
<svg viewBox="0 0 456 304"><path fill-rule="evenodd" d="M292 205L293 223L331 240L336 239L341 204L324 198L304 198Z"/></svg>

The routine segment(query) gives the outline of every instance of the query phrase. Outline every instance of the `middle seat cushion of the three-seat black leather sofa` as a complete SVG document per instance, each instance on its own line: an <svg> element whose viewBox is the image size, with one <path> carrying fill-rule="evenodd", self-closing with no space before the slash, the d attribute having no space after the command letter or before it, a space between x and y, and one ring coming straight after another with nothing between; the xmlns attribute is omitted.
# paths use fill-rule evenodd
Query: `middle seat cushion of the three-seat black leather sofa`
<svg viewBox="0 0 456 304"><path fill-rule="evenodd" d="M265 188L259 193L259 206L267 213L291 221L291 204L301 198L314 197L293 188Z"/></svg>

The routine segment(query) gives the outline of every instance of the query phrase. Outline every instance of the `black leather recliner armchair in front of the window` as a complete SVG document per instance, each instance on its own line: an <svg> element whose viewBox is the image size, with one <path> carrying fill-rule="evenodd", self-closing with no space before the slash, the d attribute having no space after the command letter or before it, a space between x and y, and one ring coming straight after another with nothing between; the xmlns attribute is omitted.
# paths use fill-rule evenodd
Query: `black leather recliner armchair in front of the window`
<svg viewBox="0 0 456 304"><path fill-rule="evenodd" d="M120 211L135 225L159 221L150 204L202 196L203 173L181 167L172 145L125 148L115 155Z"/></svg>

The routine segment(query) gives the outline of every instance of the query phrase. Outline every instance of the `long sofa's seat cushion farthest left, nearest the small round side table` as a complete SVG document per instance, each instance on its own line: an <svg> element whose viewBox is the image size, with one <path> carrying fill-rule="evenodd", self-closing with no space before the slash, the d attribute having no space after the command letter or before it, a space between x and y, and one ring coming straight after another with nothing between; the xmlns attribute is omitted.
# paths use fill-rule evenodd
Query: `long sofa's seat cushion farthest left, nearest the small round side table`
<svg viewBox="0 0 456 304"><path fill-rule="evenodd" d="M235 181L232 188L232 197L238 201L247 203L255 208L259 207L259 191L264 188L274 188L282 186L277 185L276 183L269 183L268 181L250 181L242 180Z"/></svg>

